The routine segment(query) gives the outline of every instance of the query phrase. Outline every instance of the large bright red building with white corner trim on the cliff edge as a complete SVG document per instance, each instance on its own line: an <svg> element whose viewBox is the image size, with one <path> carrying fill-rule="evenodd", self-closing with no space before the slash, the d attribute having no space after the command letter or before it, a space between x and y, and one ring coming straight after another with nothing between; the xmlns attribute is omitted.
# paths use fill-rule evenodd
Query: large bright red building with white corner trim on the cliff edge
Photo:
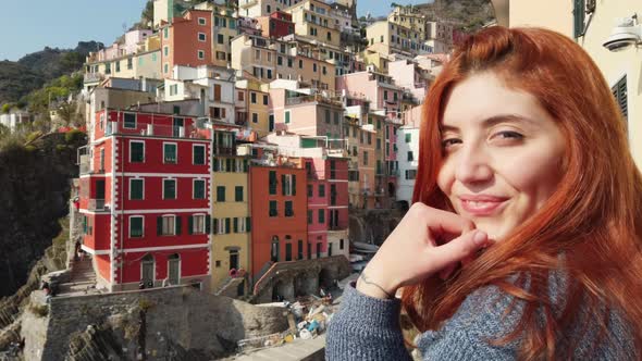
<svg viewBox="0 0 642 361"><path fill-rule="evenodd" d="M99 286L207 281L208 137L194 119L171 114L102 110L94 123L79 208Z"/></svg>

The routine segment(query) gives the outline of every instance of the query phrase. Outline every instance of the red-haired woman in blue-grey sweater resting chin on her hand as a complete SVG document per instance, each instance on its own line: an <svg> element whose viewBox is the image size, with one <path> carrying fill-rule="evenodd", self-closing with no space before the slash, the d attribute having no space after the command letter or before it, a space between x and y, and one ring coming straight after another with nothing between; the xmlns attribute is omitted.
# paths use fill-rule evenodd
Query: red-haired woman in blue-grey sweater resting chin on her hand
<svg viewBox="0 0 642 361"><path fill-rule="evenodd" d="M589 55L550 30L483 29L420 132L415 204L346 287L328 359L410 359L402 306L427 360L639 359L642 178Z"/></svg>

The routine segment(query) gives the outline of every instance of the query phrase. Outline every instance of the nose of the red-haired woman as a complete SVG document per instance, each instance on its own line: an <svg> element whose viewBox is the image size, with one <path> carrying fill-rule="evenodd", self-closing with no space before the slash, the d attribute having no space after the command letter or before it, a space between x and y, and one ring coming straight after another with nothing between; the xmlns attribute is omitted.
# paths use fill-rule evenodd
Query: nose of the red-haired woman
<svg viewBox="0 0 642 361"><path fill-rule="evenodd" d="M490 159L482 147L464 146L458 152L455 178L464 184L479 184L493 179Z"/></svg>

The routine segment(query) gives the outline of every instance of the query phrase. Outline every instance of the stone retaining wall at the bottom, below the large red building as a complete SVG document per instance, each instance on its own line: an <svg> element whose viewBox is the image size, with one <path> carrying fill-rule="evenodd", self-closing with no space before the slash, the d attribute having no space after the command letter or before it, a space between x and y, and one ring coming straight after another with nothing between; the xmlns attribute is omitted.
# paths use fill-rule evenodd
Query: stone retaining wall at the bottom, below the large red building
<svg viewBox="0 0 642 361"><path fill-rule="evenodd" d="M259 308L182 286L54 297L49 303L44 344L37 333L23 334L25 359L65 359L70 356L70 341L77 350L84 347L78 343L92 339L86 337L88 329L110 331L108 338L118 340L118 351L127 360L137 359L141 352L147 360L164 360L177 353L213 359L233 352L240 339L285 331L285 312L282 308ZM23 329L29 327L23 323Z"/></svg>

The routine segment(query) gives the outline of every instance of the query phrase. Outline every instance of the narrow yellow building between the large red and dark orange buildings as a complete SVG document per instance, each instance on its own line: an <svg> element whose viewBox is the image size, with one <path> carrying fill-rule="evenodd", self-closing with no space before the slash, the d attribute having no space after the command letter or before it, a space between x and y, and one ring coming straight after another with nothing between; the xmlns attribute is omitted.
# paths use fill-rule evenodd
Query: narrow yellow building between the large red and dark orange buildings
<svg viewBox="0 0 642 361"><path fill-rule="evenodd" d="M244 296L249 283L238 271L251 274L249 159L237 155L235 133L227 129L214 129L212 154L210 289L230 297Z"/></svg>

